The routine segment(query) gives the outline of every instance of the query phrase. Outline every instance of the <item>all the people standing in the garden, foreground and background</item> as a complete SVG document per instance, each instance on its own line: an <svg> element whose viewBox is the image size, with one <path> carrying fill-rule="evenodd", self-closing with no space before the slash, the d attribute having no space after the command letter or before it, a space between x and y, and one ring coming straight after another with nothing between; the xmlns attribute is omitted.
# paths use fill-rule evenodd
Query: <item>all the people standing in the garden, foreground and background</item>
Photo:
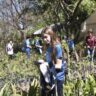
<svg viewBox="0 0 96 96"><path fill-rule="evenodd" d="M64 69L65 59L63 56L63 48L59 37L52 27L46 27L42 30L41 39L44 42L45 59L40 61L40 83L41 83L41 96L63 96L63 81L64 81ZM93 61L96 38L93 35L92 30L88 31L86 36L86 48L88 58ZM74 42L68 40L68 46L74 49ZM35 47L42 54L42 46L35 42ZM30 37L27 37L24 41L24 48L27 58L30 58ZM13 43L10 41L7 44L6 51L9 57L13 55ZM46 91L47 90L47 91ZM57 94L57 95L56 95Z"/></svg>

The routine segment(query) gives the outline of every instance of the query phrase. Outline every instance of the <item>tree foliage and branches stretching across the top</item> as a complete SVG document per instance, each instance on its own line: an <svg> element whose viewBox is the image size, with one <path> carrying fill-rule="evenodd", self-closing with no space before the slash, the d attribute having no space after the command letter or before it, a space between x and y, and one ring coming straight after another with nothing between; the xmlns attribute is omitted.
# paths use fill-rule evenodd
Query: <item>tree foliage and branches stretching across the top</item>
<svg viewBox="0 0 96 96"><path fill-rule="evenodd" d="M73 34L76 39L80 34L82 22L96 9L96 0L9 1L0 2L0 28L3 34L15 29L16 32L20 32L21 38L24 38L26 32L29 34L46 25L60 22L57 28L57 31L61 31L60 35Z"/></svg>

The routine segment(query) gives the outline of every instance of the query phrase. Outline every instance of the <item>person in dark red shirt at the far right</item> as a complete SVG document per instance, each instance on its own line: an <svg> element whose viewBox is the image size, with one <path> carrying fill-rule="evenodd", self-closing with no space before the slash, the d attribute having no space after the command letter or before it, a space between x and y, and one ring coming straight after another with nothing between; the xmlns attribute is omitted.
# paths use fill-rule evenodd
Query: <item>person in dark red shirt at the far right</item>
<svg viewBox="0 0 96 96"><path fill-rule="evenodd" d="M88 35L86 36L86 48L87 48L87 56L89 60L93 62L95 46L96 46L96 39L93 35L92 29L88 30Z"/></svg>

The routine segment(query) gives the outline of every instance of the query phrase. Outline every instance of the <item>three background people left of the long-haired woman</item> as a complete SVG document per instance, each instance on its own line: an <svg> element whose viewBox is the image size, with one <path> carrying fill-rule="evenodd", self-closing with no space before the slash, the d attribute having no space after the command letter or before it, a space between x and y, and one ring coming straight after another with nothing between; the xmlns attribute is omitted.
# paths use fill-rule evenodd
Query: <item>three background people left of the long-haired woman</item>
<svg viewBox="0 0 96 96"><path fill-rule="evenodd" d="M34 48L36 52L42 54L42 44L39 38L33 40L31 36L27 36L26 39L22 42L21 51L26 53L27 59L30 59L30 51ZM12 40L9 40L6 44L6 53L9 56L9 59L12 59L14 55L14 44Z"/></svg>

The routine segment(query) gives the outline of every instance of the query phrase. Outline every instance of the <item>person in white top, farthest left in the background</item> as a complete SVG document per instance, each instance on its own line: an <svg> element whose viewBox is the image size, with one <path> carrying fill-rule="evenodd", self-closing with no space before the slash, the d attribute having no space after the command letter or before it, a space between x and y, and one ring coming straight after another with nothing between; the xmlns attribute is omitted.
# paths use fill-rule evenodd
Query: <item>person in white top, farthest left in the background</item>
<svg viewBox="0 0 96 96"><path fill-rule="evenodd" d="M13 58L14 50L13 50L13 42L10 40L9 43L6 45L6 52L9 56L9 59Z"/></svg>

